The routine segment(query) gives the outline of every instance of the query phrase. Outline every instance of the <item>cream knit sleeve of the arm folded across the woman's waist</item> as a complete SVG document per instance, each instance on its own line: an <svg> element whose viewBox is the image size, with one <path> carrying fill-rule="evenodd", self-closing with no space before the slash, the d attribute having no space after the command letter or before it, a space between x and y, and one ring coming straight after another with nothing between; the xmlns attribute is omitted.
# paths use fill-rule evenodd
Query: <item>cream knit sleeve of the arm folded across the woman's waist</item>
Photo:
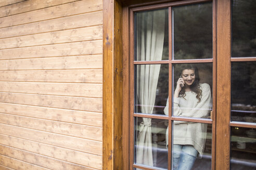
<svg viewBox="0 0 256 170"><path fill-rule="evenodd" d="M195 108L191 108L189 112L182 112L179 106L179 98L174 98L174 116L207 118L211 109L211 90L209 84L201 84L201 90L201 101Z"/></svg>

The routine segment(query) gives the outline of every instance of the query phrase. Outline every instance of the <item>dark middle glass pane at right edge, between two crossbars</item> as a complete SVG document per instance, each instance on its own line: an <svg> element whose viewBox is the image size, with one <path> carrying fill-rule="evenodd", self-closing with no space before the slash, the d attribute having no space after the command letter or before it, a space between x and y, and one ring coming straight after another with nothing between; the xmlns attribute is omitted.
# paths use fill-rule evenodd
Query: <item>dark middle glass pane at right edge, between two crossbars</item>
<svg viewBox="0 0 256 170"><path fill-rule="evenodd" d="M256 62L232 63L232 121L256 123Z"/></svg>

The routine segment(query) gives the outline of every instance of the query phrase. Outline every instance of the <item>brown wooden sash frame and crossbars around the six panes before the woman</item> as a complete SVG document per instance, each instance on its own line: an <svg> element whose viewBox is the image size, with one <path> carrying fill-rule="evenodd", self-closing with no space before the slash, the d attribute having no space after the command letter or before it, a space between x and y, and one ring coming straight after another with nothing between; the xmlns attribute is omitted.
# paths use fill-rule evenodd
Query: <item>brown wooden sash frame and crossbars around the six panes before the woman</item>
<svg viewBox="0 0 256 170"><path fill-rule="evenodd" d="M133 168L142 168L142 169L153 169L153 168L145 168L145 166L140 166L137 164L133 164L134 157L133 157L133 151L134 151L134 118L135 117L144 117L144 118L155 118L155 119L162 119L162 120L168 120L169 121L169 143L172 141L172 121L191 121L191 122L200 122L200 123L207 123L212 124L212 152L214 153L215 150L215 77L216 77L216 44L215 44L215 15L213 15L213 58L212 59L196 59L196 60L174 60L172 57L172 7L175 6L182 6L182 5L190 5L190 4L198 4L198 3L206 3L206 2L212 2L212 1L205 1L205 0L193 0L193 1L178 1L178 2L171 2L171 3L164 3L159 5L150 5L150 6L144 6L144 7L135 7L130 9L130 166L133 166ZM215 1L213 1L213 11L215 11ZM168 8L169 10L169 60L163 60L163 61L134 61L134 13L139 11L147 11L147 10L153 10L153 9L162 9L162 8ZM215 12L213 12L214 14ZM173 64L181 64L181 63L212 63L213 64L213 102L212 102L212 119L200 119L200 118L184 118L184 117L174 117L172 115L167 116L160 116L160 115L150 115L150 114L135 114L134 113L134 66L140 65L140 64L168 64L169 65L169 98L172 98L172 67ZM172 110L172 100L169 100L169 112ZM171 148L172 145L168 145L168 169L171 169ZM214 169L214 161L215 160L215 154L212 154L212 167Z"/></svg>

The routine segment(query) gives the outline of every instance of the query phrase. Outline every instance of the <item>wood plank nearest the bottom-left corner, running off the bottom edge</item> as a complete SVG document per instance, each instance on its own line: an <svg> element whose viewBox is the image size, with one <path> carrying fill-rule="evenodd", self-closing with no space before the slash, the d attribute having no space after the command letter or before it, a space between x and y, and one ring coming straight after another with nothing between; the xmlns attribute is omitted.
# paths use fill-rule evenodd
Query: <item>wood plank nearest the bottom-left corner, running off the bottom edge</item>
<svg viewBox="0 0 256 170"><path fill-rule="evenodd" d="M10 167L12 169L16 170L28 170L28 169L33 169L33 170L49 170L48 168L36 166L27 162L23 162L17 159L13 159L10 157L6 157L4 155L0 154L0 164Z"/></svg>

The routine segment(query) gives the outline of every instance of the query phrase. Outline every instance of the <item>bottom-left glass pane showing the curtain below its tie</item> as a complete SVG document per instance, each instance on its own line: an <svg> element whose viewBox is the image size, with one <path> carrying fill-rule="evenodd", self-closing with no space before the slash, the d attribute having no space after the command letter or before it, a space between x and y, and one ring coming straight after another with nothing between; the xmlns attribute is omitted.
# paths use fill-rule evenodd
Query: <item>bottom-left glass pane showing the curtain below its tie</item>
<svg viewBox="0 0 256 170"><path fill-rule="evenodd" d="M167 126L168 120L135 118L135 163L168 168Z"/></svg>

